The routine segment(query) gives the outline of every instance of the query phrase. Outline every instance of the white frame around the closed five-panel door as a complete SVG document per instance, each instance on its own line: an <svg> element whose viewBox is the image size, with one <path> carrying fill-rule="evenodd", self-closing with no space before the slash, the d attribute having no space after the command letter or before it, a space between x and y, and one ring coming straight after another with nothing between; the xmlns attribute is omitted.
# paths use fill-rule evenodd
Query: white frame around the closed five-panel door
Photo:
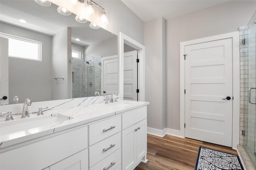
<svg viewBox="0 0 256 170"><path fill-rule="evenodd" d="M240 49L239 49L239 31L217 36L210 36L186 42L180 42L180 135L185 137L185 46L197 43L210 42L232 38L233 49L233 121L232 121L232 148L237 149L239 144L240 129Z"/></svg>

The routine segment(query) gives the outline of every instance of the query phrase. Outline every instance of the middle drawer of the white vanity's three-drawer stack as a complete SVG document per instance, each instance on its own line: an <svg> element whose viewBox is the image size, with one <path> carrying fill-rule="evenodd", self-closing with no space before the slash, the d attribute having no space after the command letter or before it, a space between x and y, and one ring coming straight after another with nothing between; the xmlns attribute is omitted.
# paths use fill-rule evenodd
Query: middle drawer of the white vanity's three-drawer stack
<svg viewBox="0 0 256 170"><path fill-rule="evenodd" d="M112 146L110 146L112 145ZM90 167L121 147L121 132L89 147ZM103 152L103 148L105 151Z"/></svg>

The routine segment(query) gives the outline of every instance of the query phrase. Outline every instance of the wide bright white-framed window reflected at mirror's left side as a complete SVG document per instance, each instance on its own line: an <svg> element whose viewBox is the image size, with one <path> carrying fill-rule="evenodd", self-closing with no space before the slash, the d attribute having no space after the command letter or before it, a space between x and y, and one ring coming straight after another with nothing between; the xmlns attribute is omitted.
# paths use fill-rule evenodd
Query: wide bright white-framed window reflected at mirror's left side
<svg viewBox="0 0 256 170"><path fill-rule="evenodd" d="M9 57L42 61L42 42L4 33L0 33L0 36L9 39Z"/></svg>

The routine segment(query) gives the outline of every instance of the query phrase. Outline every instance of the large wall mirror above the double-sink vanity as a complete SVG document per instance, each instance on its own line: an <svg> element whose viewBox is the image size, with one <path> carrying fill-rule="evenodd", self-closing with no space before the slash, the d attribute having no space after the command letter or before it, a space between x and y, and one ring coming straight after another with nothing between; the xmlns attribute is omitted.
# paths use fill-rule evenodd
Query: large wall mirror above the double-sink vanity
<svg viewBox="0 0 256 170"><path fill-rule="evenodd" d="M8 84L8 92L1 91L0 97L9 101L1 104L15 104L14 96L23 103L26 98L38 102L91 97L95 91L118 93L117 36L90 28L89 21L77 22L75 14L61 15L57 8L34 0L0 1L0 36L9 40L8 82L0 82ZM25 54L16 54L26 47ZM6 59L0 61L4 68Z"/></svg>

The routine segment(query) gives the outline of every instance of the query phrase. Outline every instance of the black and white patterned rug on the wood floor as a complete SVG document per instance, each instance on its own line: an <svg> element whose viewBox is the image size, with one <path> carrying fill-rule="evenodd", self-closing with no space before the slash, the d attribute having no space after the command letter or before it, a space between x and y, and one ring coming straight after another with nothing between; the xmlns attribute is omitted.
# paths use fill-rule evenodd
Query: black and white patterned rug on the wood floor
<svg viewBox="0 0 256 170"><path fill-rule="evenodd" d="M200 147L195 170L244 170L238 156Z"/></svg>

